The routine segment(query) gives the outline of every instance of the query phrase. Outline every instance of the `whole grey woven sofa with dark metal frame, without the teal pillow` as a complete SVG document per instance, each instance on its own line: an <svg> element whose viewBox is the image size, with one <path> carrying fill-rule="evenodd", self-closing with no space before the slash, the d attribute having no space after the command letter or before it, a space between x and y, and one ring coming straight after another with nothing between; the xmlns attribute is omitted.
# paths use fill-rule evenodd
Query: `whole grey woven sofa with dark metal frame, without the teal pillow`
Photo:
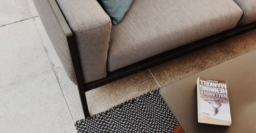
<svg viewBox="0 0 256 133"><path fill-rule="evenodd" d="M112 25L97 0L34 0L85 116L85 91L256 28L255 0L134 0Z"/></svg>

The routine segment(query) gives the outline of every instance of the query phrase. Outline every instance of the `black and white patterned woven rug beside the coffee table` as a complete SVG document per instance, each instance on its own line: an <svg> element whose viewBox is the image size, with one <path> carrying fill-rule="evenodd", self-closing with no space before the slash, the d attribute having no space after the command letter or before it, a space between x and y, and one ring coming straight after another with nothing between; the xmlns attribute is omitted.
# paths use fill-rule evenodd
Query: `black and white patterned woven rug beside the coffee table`
<svg viewBox="0 0 256 133"><path fill-rule="evenodd" d="M79 120L75 126L78 133L171 133L177 124L156 90Z"/></svg>

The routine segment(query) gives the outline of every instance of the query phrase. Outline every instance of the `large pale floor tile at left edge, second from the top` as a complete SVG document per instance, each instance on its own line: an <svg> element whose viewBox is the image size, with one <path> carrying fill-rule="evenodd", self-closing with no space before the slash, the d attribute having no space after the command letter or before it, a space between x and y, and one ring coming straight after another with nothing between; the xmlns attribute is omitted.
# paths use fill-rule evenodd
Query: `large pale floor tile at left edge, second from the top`
<svg viewBox="0 0 256 133"><path fill-rule="evenodd" d="M0 27L0 88L52 69L32 19Z"/></svg>

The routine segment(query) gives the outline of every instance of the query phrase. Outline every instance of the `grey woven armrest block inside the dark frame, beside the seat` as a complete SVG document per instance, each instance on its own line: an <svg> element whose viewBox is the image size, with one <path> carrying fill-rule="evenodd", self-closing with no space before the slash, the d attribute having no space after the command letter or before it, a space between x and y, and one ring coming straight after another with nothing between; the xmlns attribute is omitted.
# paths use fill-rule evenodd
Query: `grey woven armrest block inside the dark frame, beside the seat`
<svg viewBox="0 0 256 133"><path fill-rule="evenodd" d="M84 83L106 77L111 20L96 0L56 0L73 32Z"/></svg>

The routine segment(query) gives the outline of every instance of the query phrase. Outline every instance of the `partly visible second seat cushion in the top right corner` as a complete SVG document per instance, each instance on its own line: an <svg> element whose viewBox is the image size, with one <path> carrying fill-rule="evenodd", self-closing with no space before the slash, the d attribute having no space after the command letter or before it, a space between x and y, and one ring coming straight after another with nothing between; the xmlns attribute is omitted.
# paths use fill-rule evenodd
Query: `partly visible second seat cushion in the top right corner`
<svg viewBox="0 0 256 133"><path fill-rule="evenodd" d="M243 16L238 25L256 22L256 0L234 0L243 10Z"/></svg>

